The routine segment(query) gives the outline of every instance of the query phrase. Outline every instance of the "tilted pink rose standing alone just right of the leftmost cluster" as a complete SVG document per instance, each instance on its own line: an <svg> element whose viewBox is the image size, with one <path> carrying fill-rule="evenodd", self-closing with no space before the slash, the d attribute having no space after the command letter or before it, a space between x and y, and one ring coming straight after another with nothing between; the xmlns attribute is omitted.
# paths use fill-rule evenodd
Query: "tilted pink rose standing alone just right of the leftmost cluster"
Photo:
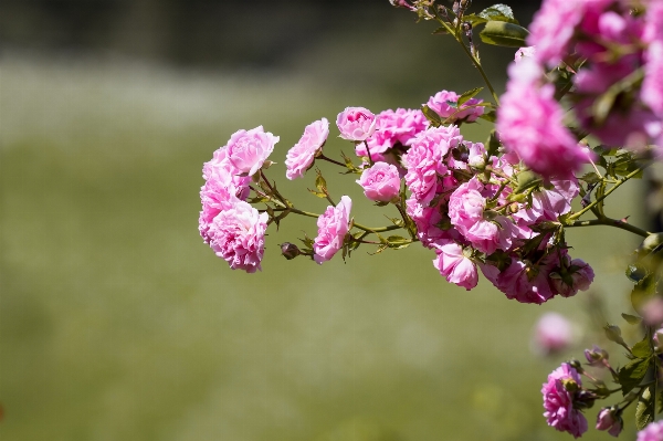
<svg viewBox="0 0 663 441"><path fill-rule="evenodd" d="M285 159L285 176L287 179L304 177L311 168L315 156L323 148L329 135L329 122L323 118L311 123L304 129L304 135L293 148L287 151Z"/></svg>

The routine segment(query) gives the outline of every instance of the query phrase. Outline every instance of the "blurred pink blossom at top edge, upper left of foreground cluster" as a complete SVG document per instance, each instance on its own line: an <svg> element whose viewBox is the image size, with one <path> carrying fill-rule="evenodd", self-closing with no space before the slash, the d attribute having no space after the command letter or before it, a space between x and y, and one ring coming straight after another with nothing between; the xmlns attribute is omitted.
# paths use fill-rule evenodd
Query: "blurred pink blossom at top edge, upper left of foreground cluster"
<svg viewBox="0 0 663 441"><path fill-rule="evenodd" d="M536 46L535 60L549 67L564 59L589 1L545 0L529 25L527 44Z"/></svg>

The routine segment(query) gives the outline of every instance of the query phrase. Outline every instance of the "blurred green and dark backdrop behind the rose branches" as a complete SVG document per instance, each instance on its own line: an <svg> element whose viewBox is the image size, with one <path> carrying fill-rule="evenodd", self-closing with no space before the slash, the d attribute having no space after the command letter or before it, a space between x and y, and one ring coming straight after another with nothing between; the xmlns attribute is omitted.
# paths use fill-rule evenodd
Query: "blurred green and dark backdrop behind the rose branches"
<svg viewBox="0 0 663 441"><path fill-rule="evenodd" d="M537 3L511 2L525 24ZM635 335L619 314L638 240L620 230L571 231L571 254L598 277L543 306L485 280L472 292L450 285L417 246L286 261L278 243L316 233L294 216L270 228L257 274L231 271L202 243L202 162L235 130L281 136L269 176L322 212L304 189L311 176L284 178L305 125L481 84L455 43L387 0L0 8L0 439L564 440L541 417L547 374L590 343L620 359L588 308L602 305L599 321ZM514 51L480 50L503 90ZM327 155L350 154L335 135ZM320 168L361 222L393 216ZM624 187L609 209L642 223L640 188ZM540 357L532 328L549 311L579 338Z"/></svg>

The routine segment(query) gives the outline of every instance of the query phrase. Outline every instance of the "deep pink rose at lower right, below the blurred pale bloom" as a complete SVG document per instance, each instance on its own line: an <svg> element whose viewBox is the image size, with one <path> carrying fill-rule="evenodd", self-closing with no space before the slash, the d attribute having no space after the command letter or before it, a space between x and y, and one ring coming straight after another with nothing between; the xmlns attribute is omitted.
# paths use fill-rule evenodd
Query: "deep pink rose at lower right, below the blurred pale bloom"
<svg viewBox="0 0 663 441"><path fill-rule="evenodd" d="M544 417L548 426L560 432L569 432L573 438L579 438L587 431L587 419L573 408L573 392L565 387L565 382L575 382L582 386L580 375L568 363L562 363L548 376L548 382L544 384Z"/></svg>

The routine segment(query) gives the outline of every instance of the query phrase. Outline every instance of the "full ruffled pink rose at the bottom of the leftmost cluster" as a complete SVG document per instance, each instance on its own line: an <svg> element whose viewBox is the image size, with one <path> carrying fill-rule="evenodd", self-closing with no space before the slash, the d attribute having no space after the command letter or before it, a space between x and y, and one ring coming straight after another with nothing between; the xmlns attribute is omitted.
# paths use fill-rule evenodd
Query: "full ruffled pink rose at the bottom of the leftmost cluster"
<svg viewBox="0 0 663 441"><path fill-rule="evenodd" d="M210 246L231 269L254 273L261 270L267 219L267 213L238 201L214 218L208 231Z"/></svg>

